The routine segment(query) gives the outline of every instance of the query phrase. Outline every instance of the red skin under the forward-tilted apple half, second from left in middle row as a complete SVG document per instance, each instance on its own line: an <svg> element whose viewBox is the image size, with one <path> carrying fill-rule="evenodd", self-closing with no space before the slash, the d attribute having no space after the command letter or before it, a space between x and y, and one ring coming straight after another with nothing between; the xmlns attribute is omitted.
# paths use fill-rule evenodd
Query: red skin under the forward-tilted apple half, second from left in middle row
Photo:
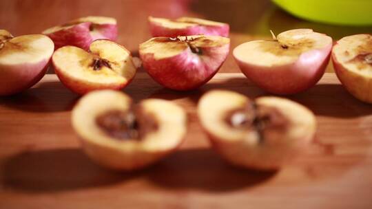
<svg viewBox="0 0 372 209"><path fill-rule="evenodd" d="M61 73L61 70L54 65L54 72L56 72L56 75L58 76L59 80L61 80L61 83L68 87L72 92L80 95L87 94L90 91L99 90L99 89L114 89L114 90L120 90L129 85L133 78L128 80L127 83L112 83L110 85L97 85L96 83L87 83L82 82L81 80L75 80L74 78L65 76Z"/></svg>

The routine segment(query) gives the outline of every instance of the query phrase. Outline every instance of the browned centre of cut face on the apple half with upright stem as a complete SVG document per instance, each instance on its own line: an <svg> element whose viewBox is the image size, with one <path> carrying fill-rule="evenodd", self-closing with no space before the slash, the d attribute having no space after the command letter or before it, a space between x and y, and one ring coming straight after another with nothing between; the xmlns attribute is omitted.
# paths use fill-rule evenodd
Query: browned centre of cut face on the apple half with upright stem
<svg viewBox="0 0 372 209"><path fill-rule="evenodd" d="M298 56L310 50L313 45L314 41L311 39L300 39L292 43L280 43L278 40L273 40L271 44L260 42L259 47L262 51L277 56Z"/></svg>

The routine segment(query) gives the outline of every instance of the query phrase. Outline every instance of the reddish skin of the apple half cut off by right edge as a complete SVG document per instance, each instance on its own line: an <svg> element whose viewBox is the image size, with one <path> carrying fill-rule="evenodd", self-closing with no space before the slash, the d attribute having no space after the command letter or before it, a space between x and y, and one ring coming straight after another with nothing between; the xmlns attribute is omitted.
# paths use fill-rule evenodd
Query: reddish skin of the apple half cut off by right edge
<svg viewBox="0 0 372 209"><path fill-rule="evenodd" d="M336 43L337 45L337 43ZM345 89L349 91L351 95L359 100L367 103L372 103L372 80L370 78L364 78L354 72L345 69L340 63L335 54L332 52L332 63L335 69L335 74L338 80L342 83Z"/></svg>

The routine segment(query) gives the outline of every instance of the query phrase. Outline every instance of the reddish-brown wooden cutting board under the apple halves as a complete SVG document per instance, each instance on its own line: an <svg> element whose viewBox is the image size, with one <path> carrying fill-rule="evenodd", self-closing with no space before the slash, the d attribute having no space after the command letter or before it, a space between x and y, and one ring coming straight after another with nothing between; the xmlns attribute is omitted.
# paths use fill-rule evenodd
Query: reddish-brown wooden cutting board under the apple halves
<svg viewBox="0 0 372 209"><path fill-rule="evenodd" d="M179 151L134 173L85 157L70 124L79 97L55 75L0 98L0 208L372 208L372 106L350 96L335 74L289 97L316 113L318 131L308 153L276 172L231 167L211 150L196 104L217 88L265 95L242 74L217 74L185 93L137 74L124 91L136 101L180 104L189 132Z"/></svg>

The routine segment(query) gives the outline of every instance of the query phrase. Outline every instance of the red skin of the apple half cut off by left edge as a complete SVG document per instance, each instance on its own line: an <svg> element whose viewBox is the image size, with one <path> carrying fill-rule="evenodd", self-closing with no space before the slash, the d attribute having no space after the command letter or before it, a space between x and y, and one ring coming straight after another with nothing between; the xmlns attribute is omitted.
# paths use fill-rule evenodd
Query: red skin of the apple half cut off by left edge
<svg viewBox="0 0 372 209"><path fill-rule="evenodd" d="M0 96L18 94L39 82L50 66L50 58L39 63L0 65Z"/></svg>

